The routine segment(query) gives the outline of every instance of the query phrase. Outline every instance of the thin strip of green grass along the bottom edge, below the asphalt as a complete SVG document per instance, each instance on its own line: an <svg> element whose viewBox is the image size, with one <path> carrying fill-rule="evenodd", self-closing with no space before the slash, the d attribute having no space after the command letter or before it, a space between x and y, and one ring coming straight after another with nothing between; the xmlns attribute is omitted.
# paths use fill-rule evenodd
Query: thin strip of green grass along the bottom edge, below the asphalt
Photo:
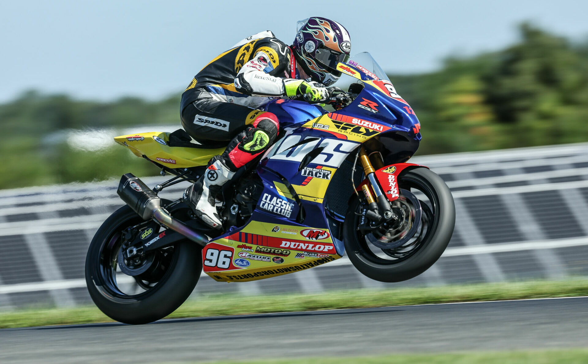
<svg viewBox="0 0 588 364"><path fill-rule="evenodd" d="M570 349L494 353L400 354L356 358L271 359L214 362L214 364L584 364L587 362L587 349Z"/></svg>

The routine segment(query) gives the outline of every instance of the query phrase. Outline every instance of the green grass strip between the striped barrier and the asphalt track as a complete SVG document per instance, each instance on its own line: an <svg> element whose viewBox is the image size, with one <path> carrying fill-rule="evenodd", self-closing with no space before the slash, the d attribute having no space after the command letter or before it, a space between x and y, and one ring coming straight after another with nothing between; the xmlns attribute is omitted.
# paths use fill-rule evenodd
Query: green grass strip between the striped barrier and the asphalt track
<svg viewBox="0 0 588 364"><path fill-rule="evenodd" d="M378 291L354 289L312 295L239 296L238 298L231 295L215 295L186 301L168 318L583 295L588 295L588 279L450 285ZM0 313L0 328L110 321L112 320L95 306L68 309L22 309Z"/></svg>

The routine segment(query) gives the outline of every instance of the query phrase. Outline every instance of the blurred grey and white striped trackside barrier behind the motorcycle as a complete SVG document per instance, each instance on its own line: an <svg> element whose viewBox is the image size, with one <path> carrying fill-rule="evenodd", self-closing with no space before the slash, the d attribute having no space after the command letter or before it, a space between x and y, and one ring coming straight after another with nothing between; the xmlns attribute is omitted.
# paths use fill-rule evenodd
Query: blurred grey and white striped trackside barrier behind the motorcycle
<svg viewBox="0 0 588 364"><path fill-rule="evenodd" d="M415 157L452 189L456 228L439 261L397 284L373 281L346 257L288 275L221 284L193 297L279 294L588 275L588 143ZM145 178L149 184L162 177ZM0 309L90 302L89 241L122 201L117 181L0 191ZM184 184L162 197L177 198Z"/></svg>

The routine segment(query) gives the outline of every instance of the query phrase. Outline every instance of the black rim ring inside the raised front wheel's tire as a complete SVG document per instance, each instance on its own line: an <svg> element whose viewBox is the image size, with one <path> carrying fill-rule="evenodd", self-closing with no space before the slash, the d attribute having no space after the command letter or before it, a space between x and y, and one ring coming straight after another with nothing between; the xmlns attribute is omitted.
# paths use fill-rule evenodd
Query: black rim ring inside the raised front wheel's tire
<svg viewBox="0 0 588 364"><path fill-rule="evenodd" d="M417 229L414 237L405 244L389 250L376 247L369 242L362 231L355 228L360 223L360 216L354 214L355 248L359 251L362 259L372 264L399 264L407 258L412 257L416 252L422 250L431 240L439 224L439 198L435 190L433 190L433 187L426 180L415 174L407 173L399 178L399 187L416 194L419 197L419 203L422 209L420 227ZM361 204L358 203L355 212L359 213L360 208Z"/></svg>

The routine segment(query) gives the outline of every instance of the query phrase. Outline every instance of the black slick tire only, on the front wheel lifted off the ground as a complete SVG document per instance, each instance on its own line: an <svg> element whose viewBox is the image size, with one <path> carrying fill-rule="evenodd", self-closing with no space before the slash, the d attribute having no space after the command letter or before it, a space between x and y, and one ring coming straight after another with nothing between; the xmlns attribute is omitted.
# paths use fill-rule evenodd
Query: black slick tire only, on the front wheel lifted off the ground
<svg viewBox="0 0 588 364"><path fill-rule="evenodd" d="M418 249L407 258L399 261L379 258L369 252L365 239L356 231L358 226L359 200L356 196L350 202L343 224L343 242L349 260L362 274L380 282L400 282L414 278L426 271L439 259L453 234L455 227L455 204L445 182L427 168L419 167L399 176L400 188L421 186L427 197L434 201L433 221Z"/></svg>

